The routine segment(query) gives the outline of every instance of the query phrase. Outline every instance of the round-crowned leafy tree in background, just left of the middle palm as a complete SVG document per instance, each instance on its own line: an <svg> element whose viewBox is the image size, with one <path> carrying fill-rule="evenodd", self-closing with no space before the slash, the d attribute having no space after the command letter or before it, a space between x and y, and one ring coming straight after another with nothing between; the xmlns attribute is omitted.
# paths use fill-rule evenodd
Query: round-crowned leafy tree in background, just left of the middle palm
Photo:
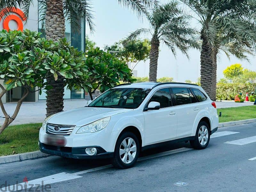
<svg viewBox="0 0 256 192"><path fill-rule="evenodd" d="M121 40L113 45L105 46L104 49L126 62L127 65L129 62L134 63L134 65L131 66L133 70L140 61L148 59L150 42L148 39Z"/></svg>

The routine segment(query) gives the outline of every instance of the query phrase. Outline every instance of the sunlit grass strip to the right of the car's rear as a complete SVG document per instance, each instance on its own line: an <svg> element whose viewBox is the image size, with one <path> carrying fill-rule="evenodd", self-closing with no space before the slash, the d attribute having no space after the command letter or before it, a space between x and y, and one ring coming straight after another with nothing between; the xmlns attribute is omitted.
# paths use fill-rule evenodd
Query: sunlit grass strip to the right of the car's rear
<svg viewBox="0 0 256 192"><path fill-rule="evenodd" d="M219 117L220 123L256 118L256 105L244 107L219 108L217 109L217 111L218 114L221 111L221 117Z"/></svg>

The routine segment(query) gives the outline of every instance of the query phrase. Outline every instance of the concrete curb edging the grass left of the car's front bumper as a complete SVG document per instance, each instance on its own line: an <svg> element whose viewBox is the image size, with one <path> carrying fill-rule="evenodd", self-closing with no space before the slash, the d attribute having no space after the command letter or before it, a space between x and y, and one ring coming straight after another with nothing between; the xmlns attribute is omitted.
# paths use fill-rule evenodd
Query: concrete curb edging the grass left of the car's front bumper
<svg viewBox="0 0 256 192"><path fill-rule="evenodd" d="M36 158L47 157L47 156L51 156L51 155L42 153L41 151L33 151L33 152L20 153L15 155L0 156L0 164L24 161L28 159L36 159Z"/></svg>

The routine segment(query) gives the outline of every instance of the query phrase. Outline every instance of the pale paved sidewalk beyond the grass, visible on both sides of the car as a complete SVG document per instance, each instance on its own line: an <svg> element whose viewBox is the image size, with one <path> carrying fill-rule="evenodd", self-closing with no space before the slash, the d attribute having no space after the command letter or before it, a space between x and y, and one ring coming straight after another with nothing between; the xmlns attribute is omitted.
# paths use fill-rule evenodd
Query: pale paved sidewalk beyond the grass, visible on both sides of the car
<svg viewBox="0 0 256 192"><path fill-rule="evenodd" d="M253 105L253 102L235 103L234 101L215 101L217 108L241 107ZM64 111L86 105L86 100L64 101ZM46 114L46 102L25 102L22 103L20 111L16 119L11 125L27 124L27 123L42 123ZM5 103L4 107L10 116L15 110L16 103ZM3 116L0 111L0 116ZM3 124L4 118L0 118L0 124Z"/></svg>

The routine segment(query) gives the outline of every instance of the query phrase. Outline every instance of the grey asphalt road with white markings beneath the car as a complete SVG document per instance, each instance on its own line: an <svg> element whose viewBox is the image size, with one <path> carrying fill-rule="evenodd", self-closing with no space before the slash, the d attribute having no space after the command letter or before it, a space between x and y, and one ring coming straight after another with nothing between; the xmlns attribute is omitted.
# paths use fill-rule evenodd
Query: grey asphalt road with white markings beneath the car
<svg viewBox="0 0 256 192"><path fill-rule="evenodd" d="M2 164L0 191L4 191L6 185L11 185L10 189L13 189L12 185L22 183L26 177L28 185L35 186L44 180L45 183L51 183L44 191L58 192L255 192L255 130L256 123L220 128L212 135L209 146L204 150L191 149L189 143L184 142L176 146L151 149L140 157L133 168L126 170L110 166L106 168L105 165L109 164L107 160L84 161L57 156ZM174 185L176 182L185 182L187 185ZM22 185L24 187L27 184ZM39 190L42 191L42 187ZM36 188L31 191L36 191Z"/></svg>

